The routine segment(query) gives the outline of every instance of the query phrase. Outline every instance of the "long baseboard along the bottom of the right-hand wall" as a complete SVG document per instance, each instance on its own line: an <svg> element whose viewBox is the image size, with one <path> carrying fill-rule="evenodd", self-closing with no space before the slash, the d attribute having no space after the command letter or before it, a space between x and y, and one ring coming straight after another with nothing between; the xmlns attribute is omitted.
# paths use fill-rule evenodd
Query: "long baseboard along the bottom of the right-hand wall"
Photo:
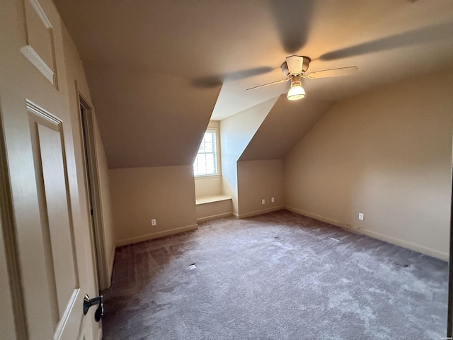
<svg viewBox="0 0 453 340"><path fill-rule="evenodd" d="M398 239L396 237L392 237L392 236L389 236L389 235L386 235L386 234L381 234L379 232L374 232L374 231L369 230L369 229L359 228L359 227L355 227L355 226L347 226L347 225L345 225L344 223L342 223L340 221L331 220L328 217L323 217L323 216L320 216L320 215L316 215L316 214L313 214L311 212L300 210L300 209L297 209L297 208L286 206L285 209L289 210L291 212L296 212L299 215L304 215L306 217L314 218L315 220L319 220L321 222L326 222L326 223L329 223L331 225L336 225L337 227L349 230L351 232L357 232L357 234L364 234L364 235L367 235L367 236L372 237L374 239L380 239L381 241L389 242L391 244L395 244L396 246L402 246L403 248L406 248L406 249L411 249L413 251L418 251L419 253L435 257L436 259L440 259L442 261L448 261L449 260L449 254L445 253L443 251L438 251L438 250L435 250L435 249L431 249L431 248L428 248L426 246L421 246L420 244L415 244L415 243L412 243L412 242L408 242L408 241L405 241L403 239Z"/></svg>

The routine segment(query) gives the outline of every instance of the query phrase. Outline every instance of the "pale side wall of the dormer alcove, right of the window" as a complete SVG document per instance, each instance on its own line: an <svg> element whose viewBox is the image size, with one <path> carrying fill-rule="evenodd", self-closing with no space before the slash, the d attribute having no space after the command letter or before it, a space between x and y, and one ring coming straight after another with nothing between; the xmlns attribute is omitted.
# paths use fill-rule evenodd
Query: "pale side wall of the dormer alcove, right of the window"
<svg viewBox="0 0 453 340"><path fill-rule="evenodd" d="M233 199L233 213L239 214L237 161L278 97L260 103L220 121L222 145L222 193Z"/></svg>

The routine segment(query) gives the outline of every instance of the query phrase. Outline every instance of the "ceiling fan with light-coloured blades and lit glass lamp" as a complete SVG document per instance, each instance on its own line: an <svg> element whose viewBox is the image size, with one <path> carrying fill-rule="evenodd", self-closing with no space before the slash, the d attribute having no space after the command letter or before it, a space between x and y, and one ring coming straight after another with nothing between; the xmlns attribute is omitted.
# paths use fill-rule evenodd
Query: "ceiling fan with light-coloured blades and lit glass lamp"
<svg viewBox="0 0 453 340"><path fill-rule="evenodd" d="M306 70L309 68L311 59L309 57L304 57L302 55L290 55L286 57L285 62L283 62L280 67L282 72L287 77L287 79L273 81L272 83L253 86L248 90L258 89L260 87L280 84L285 81L291 81L291 87L289 88L287 98L290 101L294 101L300 98L304 98L305 90L302 87L301 78L309 79L318 79L318 78L327 78L327 77L340 77L347 76L358 71L357 66L350 67L340 67L338 69L323 69L321 71L310 72L306 74Z"/></svg>

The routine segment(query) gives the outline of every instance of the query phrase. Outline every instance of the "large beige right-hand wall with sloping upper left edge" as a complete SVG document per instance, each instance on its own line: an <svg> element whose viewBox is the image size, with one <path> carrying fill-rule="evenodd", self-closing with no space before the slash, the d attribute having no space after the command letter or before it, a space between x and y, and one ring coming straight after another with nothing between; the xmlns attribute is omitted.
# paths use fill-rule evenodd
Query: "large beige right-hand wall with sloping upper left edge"
<svg viewBox="0 0 453 340"><path fill-rule="evenodd" d="M452 84L437 74L337 103L285 157L287 207L448 259Z"/></svg>

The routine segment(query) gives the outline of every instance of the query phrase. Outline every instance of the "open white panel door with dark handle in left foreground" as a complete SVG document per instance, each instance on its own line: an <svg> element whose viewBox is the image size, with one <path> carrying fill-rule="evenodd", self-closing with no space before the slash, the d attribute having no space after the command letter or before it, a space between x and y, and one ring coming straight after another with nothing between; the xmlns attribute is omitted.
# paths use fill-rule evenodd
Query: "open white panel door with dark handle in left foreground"
<svg viewBox="0 0 453 340"><path fill-rule="evenodd" d="M6 307L16 339L97 339L96 307L83 312L84 295L97 288L88 220L80 217L83 159L71 135L68 96L77 94L67 93L52 1L0 1L0 45L0 197L8 203L0 269L11 280Z"/></svg>

